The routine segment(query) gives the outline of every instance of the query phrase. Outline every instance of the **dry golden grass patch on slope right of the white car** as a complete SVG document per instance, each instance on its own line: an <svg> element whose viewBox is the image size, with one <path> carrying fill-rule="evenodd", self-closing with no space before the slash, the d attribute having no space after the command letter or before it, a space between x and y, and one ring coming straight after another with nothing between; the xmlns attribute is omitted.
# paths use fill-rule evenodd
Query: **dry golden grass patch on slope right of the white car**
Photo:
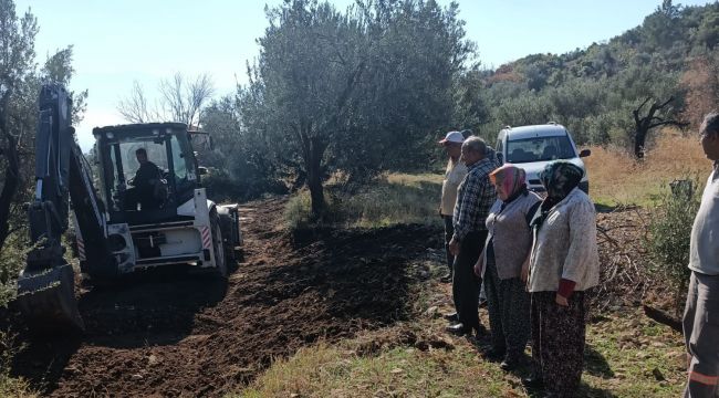
<svg viewBox="0 0 719 398"><path fill-rule="evenodd" d="M695 136L682 136L671 129L660 134L640 163L624 149L591 147L592 156L585 161L590 192L595 202L606 206L646 205L674 179L706 178L711 163Z"/></svg>

